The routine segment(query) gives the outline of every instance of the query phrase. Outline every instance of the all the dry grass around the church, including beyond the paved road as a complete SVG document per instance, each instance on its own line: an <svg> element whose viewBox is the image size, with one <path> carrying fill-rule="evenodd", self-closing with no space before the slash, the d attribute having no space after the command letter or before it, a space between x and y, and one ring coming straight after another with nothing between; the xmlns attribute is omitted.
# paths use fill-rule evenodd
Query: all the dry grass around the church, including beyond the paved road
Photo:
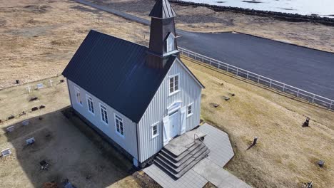
<svg viewBox="0 0 334 188"><path fill-rule="evenodd" d="M119 1L118 7L126 7L124 2ZM132 12L143 15L146 9L143 7L140 14ZM260 28L259 36L333 51L333 27L312 23L291 26L288 22L252 16L246 19L239 14L216 13L198 7L176 6L176 11L184 19L178 28L246 33L257 33L256 28ZM186 16L192 12L202 16L207 13L207 20L198 23L198 17ZM218 17L216 22L209 20L212 16ZM229 21L222 21L228 18ZM59 110L69 105L66 84L59 83L61 76L52 78L54 84L59 83L54 87L30 94L26 90L28 85L36 85L31 81L59 75L90 29L137 43L148 41L147 26L73 1L1 1L0 150L10 147L14 154L0 159L0 187L41 187L44 182L66 177L78 187L140 186L138 179L128 173L130 163L121 164L123 160L103 157L101 148L74 126L74 122L61 115ZM202 98L203 120L231 137L236 156L226 166L228 171L253 187L301 187L308 181L314 181L315 187L333 187L333 112L183 60L206 85ZM7 88L16 79L24 85ZM43 82L48 85L49 79ZM223 100L229 93L236 96ZM32 96L39 100L29 102ZM210 103L220 106L212 108ZM30 112L40 105L46 108ZM26 115L19 116L22 111ZM10 115L15 118L6 120ZM44 119L38 120L39 116ZM301 126L306 117L311 118L310 127ZM18 126L13 134L5 134L5 127L19 125L25 119L31 120L31 126ZM38 141L36 145L24 147L24 140L33 135ZM258 145L247 150L255 136ZM51 162L47 172L39 170L42 159ZM325 167L318 167L318 160L325 160Z"/></svg>

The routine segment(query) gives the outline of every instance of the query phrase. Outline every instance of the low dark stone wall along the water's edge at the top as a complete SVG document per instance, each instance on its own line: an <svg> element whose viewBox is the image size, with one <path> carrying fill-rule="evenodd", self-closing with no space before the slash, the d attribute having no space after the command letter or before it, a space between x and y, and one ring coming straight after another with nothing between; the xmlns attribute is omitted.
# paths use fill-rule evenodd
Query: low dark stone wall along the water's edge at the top
<svg viewBox="0 0 334 188"><path fill-rule="evenodd" d="M274 19L283 20L283 21L293 21L293 22L300 22L300 21L308 21L313 23L321 23L327 26L334 26L334 19L327 18L327 17L320 17L320 16L306 16L301 14L289 14L283 12L275 12L275 11L258 11L254 9L243 9L238 7L231 7L231 6L218 6L218 5L211 5L211 4L201 4L201 3L193 3L193 2L185 2L179 0L170 0L170 2L174 4L184 5L184 6L205 6L209 9L213 9L214 11L233 11L236 13L243 13L255 16L265 16L265 17L272 17Z"/></svg>

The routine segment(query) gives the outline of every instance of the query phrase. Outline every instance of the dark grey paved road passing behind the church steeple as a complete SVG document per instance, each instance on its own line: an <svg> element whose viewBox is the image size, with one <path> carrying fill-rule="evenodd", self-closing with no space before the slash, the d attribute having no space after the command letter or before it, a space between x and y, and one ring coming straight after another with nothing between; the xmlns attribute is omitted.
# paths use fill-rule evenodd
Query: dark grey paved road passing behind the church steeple
<svg viewBox="0 0 334 188"><path fill-rule="evenodd" d="M123 18L150 24L136 16L74 0ZM193 33L177 30L178 46L264 75L311 93L334 99L334 53L317 51L241 33Z"/></svg>

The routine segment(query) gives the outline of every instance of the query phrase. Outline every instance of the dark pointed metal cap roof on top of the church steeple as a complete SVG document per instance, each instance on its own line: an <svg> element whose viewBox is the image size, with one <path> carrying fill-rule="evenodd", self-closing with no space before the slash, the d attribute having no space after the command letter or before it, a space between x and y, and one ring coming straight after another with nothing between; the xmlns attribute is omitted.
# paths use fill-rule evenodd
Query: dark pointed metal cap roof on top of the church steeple
<svg viewBox="0 0 334 188"><path fill-rule="evenodd" d="M168 0L157 0L149 16L159 19L168 19L176 16L175 11L169 4Z"/></svg>

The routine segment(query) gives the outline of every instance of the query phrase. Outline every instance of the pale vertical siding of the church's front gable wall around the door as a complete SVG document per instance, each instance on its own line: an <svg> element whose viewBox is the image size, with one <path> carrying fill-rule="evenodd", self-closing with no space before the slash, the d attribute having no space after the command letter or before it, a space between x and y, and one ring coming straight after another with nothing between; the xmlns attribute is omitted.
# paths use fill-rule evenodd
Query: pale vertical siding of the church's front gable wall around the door
<svg viewBox="0 0 334 188"><path fill-rule="evenodd" d="M176 60L179 61L179 60ZM179 74L180 92L168 96L169 76ZM176 101L182 101L181 106L193 103L193 115L187 117L186 131L199 125L201 113L201 86L196 83L181 63L175 62L163 79L156 95L146 109L141 121L138 123L139 161L144 162L156 154L163 147L163 117L168 115L167 108ZM159 135L152 139L151 125L159 122Z"/></svg>

